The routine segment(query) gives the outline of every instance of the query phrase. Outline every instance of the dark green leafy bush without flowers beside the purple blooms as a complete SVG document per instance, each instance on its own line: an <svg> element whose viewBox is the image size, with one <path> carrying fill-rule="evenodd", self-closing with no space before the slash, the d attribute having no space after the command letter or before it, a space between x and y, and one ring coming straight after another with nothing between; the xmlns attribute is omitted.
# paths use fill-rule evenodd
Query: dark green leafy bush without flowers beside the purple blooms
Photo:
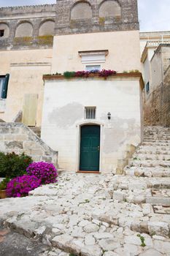
<svg viewBox="0 0 170 256"><path fill-rule="evenodd" d="M26 154L0 152L0 177L15 178L26 173L26 168L32 159Z"/></svg>

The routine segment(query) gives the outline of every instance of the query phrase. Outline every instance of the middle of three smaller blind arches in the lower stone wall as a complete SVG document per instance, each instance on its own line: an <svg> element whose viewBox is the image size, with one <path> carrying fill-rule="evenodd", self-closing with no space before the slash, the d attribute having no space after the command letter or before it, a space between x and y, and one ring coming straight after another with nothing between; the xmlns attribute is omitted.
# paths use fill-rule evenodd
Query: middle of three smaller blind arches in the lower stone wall
<svg viewBox="0 0 170 256"><path fill-rule="evenodd" d="M32 34L33 26L27 21L20 23L15 30L15 37L32 37Z"/></svg>

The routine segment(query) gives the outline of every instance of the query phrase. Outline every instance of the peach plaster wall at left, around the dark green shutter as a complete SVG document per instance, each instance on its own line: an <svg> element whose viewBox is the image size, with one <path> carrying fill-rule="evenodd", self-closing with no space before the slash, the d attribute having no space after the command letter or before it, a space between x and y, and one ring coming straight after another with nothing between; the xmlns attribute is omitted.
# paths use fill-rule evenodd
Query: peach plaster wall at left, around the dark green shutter
<svg viewBox="0 0 170 256"><path fill-rule="evenodd" d="M52 49L0 51L0 75L9 73L7 99L0 118L12 121L23 110L25 94L38 94L36 125L41 126L44 86L42 75L50 73Z"/></svg>

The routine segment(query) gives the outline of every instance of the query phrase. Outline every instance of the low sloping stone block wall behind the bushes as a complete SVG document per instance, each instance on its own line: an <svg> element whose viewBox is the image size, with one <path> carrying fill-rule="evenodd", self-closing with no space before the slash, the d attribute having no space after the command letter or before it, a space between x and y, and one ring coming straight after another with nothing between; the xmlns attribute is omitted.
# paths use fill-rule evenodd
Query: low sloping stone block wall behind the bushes
<svg viewBox="0 0 170 256"><path fill-rule="evenodd" d="M58 152L53 151L31 129L21 123L0 122L0 151L16 154L24 152L34 161L53 162L55 166L58 165Z"/></svg>

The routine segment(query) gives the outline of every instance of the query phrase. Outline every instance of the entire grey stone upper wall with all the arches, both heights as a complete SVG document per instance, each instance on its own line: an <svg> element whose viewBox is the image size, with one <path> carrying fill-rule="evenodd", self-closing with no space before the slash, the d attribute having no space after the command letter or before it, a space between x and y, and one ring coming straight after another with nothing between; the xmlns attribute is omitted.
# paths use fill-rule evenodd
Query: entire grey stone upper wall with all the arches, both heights
<svg viewBox="0 0 170 256"><path fill-rule="evenodd" d="M0 50L49 48L55 34L139 30L137 0L58 0L0 8Z"/></svg>

